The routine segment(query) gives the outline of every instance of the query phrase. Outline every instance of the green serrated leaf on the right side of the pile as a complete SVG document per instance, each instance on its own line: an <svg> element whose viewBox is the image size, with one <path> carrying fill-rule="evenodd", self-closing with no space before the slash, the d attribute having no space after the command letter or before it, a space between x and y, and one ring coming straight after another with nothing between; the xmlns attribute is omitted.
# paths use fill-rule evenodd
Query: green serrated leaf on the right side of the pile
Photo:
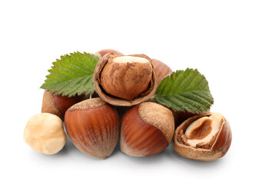
<svg viewBox="0 0 256 184"><path fill-rule="evenodd" d="M198 70L175 71L165 77L153 99L175 111L202 113L214 103L208 81Z"/></svg>

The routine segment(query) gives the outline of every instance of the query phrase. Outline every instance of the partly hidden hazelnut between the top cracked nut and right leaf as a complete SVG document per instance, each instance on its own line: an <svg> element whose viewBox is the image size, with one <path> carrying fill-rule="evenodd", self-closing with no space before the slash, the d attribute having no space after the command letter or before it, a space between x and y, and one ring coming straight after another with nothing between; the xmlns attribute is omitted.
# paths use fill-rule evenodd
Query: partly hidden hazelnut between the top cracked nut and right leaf
<svg viewBox="0 0 256 184"><path fill-rule="evenodd" d="M151 60L155 68L155 73L157 74L157 77L158 77L158 85L159 85L161 83L161 80L166 76L170 75L172 71L171 71L171 68L168 67L163 62L156 59L151 59Z"/></svg>

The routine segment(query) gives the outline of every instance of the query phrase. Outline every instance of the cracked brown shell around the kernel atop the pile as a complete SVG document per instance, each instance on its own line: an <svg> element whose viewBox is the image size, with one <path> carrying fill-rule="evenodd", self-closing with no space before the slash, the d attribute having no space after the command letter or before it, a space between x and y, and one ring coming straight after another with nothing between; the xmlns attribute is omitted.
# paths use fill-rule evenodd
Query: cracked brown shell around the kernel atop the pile
<svg viewBox="0 0 256 184"><path fill-rule="evenodd" d="M98 64L95 67L94 84L95 84L95 90L97 91L98 95L103 100L108 102L108 104L112 104L115 106L133 106L133 105L139 104L139 103L144 102L144 101L150 99L151 97L153 97L153 95L155 94L155 90L158 87L157 75L155 73L155 69L154 69L153 65L152 65L153 72L152 72L151 82L148 85L148 89L145 92L143 92L142 94L140 94L138 97L135 97L134 100L124 100L124 99L121 99L118 97L111 96L110 94L107 94L105 92L105 90L103 90L103 88L101 87L100 77L101 77L101 71L102 71L103 67L105 67L105 64L108 63L108 58L111 58L112 56L115 56L115 54L113 54L113 53L105 54L105 56L102 57L100 59L100 61L98 61ZM145 54L133 54L133 55L129 55L129 56L146 58L152 64L151 59L148 58L148 56L146 56Z"/></svg>

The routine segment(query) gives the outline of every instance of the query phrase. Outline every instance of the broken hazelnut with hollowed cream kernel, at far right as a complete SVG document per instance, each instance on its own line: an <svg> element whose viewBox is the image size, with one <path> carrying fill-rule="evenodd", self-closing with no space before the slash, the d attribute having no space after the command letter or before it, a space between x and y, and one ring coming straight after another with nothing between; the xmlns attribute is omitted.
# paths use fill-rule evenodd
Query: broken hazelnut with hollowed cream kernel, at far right
<svg viewBox="0 0 256 184"><path fill-rule="evenodd" d="M204 113L178 126L174 148L188 159L212 161L228 152L231 137L231 127L221 113Z"/></svg>

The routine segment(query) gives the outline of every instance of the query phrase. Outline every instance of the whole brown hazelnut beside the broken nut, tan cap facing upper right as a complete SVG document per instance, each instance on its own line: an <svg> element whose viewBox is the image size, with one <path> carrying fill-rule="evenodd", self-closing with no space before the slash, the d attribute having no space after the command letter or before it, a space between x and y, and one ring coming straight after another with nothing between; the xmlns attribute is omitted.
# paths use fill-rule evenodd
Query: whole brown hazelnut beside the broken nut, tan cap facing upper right
<svg viewBox="0 0 256 184"><path fill-rule="evenodd" d="M155 155L169 145L174 130L171 110L152 102L138 104L121 122L121 151L130 156Z"/></svg>

